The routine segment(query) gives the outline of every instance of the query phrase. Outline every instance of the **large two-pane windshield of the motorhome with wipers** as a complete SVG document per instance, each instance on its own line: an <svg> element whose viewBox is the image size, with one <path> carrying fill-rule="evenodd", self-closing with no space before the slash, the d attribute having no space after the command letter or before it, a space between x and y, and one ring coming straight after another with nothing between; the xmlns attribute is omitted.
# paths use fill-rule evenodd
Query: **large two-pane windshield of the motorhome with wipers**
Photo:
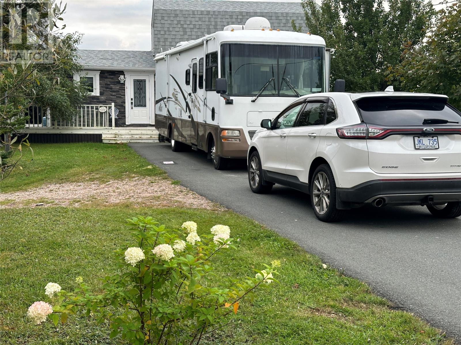
<svg viewBox="0 0 461 345"><path fill-rule="evenodd" d="M221 46L227 94L299 97L324 92L325 48L226 43Z"/></svg>

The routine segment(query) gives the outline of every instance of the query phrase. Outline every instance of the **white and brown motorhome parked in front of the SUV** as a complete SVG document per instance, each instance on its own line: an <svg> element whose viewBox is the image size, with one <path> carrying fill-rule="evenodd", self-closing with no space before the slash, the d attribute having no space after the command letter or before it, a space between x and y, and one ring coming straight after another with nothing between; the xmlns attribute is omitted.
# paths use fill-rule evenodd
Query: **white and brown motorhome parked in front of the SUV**
<svg viewBox="0 0 461 345"><path fill-rule="evenodd" d="M263 119L328 90L330 50L309 33L252 17L155 56L155 127L173 151L204 150L216 169L246 158ZM187 145L187 146L186 146Z"/></svg>

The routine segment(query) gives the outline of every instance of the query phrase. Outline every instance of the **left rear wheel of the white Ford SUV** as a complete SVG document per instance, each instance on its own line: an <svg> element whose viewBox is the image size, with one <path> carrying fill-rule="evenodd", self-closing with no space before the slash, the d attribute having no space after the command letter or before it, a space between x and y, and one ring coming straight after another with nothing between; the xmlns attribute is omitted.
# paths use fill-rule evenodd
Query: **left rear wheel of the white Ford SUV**
<svg viewBox="0 0 461 345"><path fill-rule="evenodd" d="M346 212L336 208L336 183L328 164L315 169L310 185L311 204L315 216L322 222L337 222Z"/></svg>

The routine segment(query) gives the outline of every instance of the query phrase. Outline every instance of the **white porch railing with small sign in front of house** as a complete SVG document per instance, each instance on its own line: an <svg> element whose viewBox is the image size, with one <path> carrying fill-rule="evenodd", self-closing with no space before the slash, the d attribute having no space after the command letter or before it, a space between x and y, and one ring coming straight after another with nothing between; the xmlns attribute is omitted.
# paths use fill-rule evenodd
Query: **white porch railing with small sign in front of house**
<svg viewBox="0 0 461 345"><path fill-rule="evenodd" d="M39 105L29 107L29 120L26 128L115 128L114 104L78 106L78 114L70 120L53 119L49 109L45 111ZM109 111L111 110L111 111ZM112 114L112 115L111 115Z"/></svg>

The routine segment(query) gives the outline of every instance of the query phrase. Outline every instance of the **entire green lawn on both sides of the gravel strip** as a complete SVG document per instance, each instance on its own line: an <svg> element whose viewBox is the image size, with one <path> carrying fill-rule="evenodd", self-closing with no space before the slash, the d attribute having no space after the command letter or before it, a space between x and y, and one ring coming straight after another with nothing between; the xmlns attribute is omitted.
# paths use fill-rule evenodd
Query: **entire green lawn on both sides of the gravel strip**
<svg viewBox="0 0 461 345"><path fill-rule="evenodd" d="M3 183L4 191L47 182L83 178L108 180L132 175L166 176L126 145L34 145L35 159ZM415 316L390 308L356 279L334 269L251 219L236 213L182 208L36 207L2 209L0 217L0 344L123 344L109 340L106 327L71 317L65 326L50 321L34 326L25 317L44 287L57 282L75 288L83 276L92 288L112 274L113 251L131 239L124 219L153 216L170 228L199 224L199 234L214 224L231 227L238 250L216 256L214 283L254 275L253 268L278 259L279 283L263 289L252 303L243 301L231 324L204 341L243 344L453 344Z"/></svg>

